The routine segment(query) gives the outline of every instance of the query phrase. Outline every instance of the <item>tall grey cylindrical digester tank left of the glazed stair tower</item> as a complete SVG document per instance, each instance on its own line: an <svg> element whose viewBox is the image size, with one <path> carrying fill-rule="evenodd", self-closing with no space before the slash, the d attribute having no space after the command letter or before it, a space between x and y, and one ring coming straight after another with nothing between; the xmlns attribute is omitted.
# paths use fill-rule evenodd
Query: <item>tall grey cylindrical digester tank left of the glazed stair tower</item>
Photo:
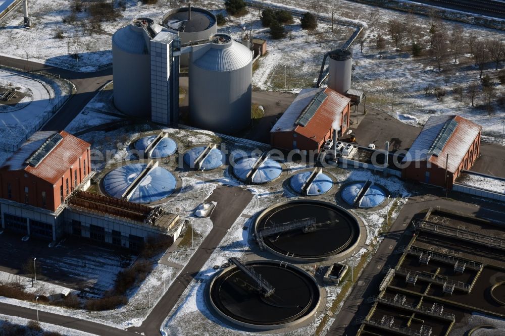
<svg viewBox="0 0 505 336"><path fill-rule="evenodd" d="M142 27L149 23L153 20L134 19L112 36L114 104L133 117L151 115L150 38Z"/></svg>

